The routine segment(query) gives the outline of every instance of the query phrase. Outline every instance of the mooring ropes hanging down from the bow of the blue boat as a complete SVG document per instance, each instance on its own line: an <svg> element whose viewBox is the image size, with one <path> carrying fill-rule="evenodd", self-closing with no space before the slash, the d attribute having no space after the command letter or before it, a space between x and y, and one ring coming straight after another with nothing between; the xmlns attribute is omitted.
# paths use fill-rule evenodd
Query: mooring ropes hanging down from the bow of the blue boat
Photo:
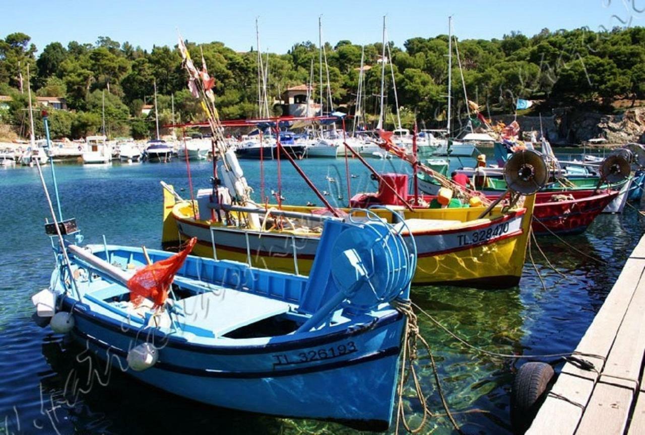
<svg viewBox="0 0 645 435"><path fill-rule="evenodd" d="M411 434L417 434L421 432L421 430L425 426L426 421L428 420L428 416L433 416L430 409L428 409L426 397L423 394L423 391L421 389L421 384L419 383L419 377L417 376L417 371L414 367L414 362L415 360L418 359L417 342L419 340L421 340L421 343L426 348L426 351L428 352L428 356L430 357L430 362L432 363L432 371L434 374L435 382L437 383L437 391L439 392L439 396L441 397L441 403L443 405L444 411L446 411L446 416L448 417L448 420L450 420L450 423L452 423L455 430L457 430L459 434L462 434L463 432L459 428L457 421L455 421L455 418L453 418L452 413L450 412L450 408L448 407L448 401L446 401L446 397L444 396L444 392L441 387L439 372L437 372L437 364L435 363L435 358L432 354L432 351L430 350L430 344L428 344L425 338L423 338L423 336L421 335L421 331L419 330L419 322L418 322L417 314L415 314L412 309L412 302L409 300L406 300L406 301L395 300L393 302L393 305L395 309L397 309L397 311L399 311L400 313L406 316L405 338L403 342L403 356L402 356L402 363L401 363L401 376L399 378L399 387L397 389L399 401L397 403L397 423L396 423L395 434L399 434L399 421L403 423L403 427L405 427L405 429L408 432L410 432ZM408 371L406 371L406 366L408 366L408 363L410 368L408 369ZM419 401L421 402L421 406L423 407L423 418L421 419L421 423L419 423L419 425L415 429L412 429L410 425L408 425L408 421L406 420L406 416L405 416L405 410L403 408L403 387L406 383L406 380L408 380L408 376L410 374L412 374L412 380L414 382L414 389L417 394L417 398L419 399Z"/></svg>

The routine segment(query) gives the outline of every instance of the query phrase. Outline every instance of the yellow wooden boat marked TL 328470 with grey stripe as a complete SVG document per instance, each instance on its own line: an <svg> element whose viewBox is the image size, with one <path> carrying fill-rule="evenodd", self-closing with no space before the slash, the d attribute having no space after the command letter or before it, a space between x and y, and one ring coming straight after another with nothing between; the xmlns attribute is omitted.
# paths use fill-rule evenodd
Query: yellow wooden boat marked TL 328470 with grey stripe
<svg viewBox="0 0 645 435"><path fill-rule="evenodd" d="M175 194L176 195L176 194ZM479 218L483 207L426 209L399 208L398 213L412 232L419 259L413 284L452 284L481 288L505 288L519 283L524 267L535 195L525 197L522 206L506 213L493 208ZM256 267L307 275L320 239L324 209L282 206L261 216L260 229L200 219L189 200L178 200L164 189L163 246L172 248L197 237L196 255L248 262ZM230 211L229 222L248 217ZM388 222L397 215L387 209L375 213ZM279 223L284 226L277 229ZM401 225L401 224L399 224ZM404 234L407 230L404 231ZM214 252L214 255L213 255Z"/></svg>

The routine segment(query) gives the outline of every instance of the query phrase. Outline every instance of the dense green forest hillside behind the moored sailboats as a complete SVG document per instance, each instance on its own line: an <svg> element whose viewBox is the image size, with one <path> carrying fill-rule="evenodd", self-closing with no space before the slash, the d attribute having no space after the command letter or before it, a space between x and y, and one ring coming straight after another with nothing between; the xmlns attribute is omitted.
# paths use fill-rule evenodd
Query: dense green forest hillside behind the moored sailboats
<svg viewBox="0 0 645 435"><path fill-rule="evenodd" d="M443 125L448 36L415 37L402 47L390 45L403 123L410 126L416 116L424 126ZM198 59L197 66L203 50L209 72L215 77L221 117L257 115L256 52L235 52L219 42L187 46ZM365 108L373 114L378 112L381 50L381 43L364 46L365 64L374 66L365 76ZM333 106L352 113L361 46L350 41L326 43L324 55ZM319 49L315 44L297 43L287 53L264 55L267 56L270 97L279 99L289 86L308 82L312 71L317 82ZM453 113L458 118L465 110L460 63L468 99L483 106L487 116L512 112L517 98L537 101L532 110L575 106L606 112L614 110L616 101L624 104L627 100L631 105L645 98L645 28L616 28L600 33L544 29L533 37L511 32L491 41L458 41L453 44L452 75ZM54 137L83 137L99 131L103 92L109 135L146 137L154 127L150 122L154 113L143 115L141 108L152 103L155 81L162 123L170 122L170 95L174 95L176 121L201 117L186 88L176 47L155 46L148 52L128 42L99 37L94 44L73 41L63 46L52 42L37 48L30 43L29 35L15 33L0 39L0 95L10 97L0 101L5 102L0 106L0 132L10 129L25 134L27 66L36 95L66 99L69 110L50 110ZM326 82L326 71L323 76ZM392 113L395 99L389 65L386 86L388 111ZM325 104L328 106L328 102ZM274 110L279 114L280 106ZM392 121L393 117L388 116L388 122Z"/></svg>

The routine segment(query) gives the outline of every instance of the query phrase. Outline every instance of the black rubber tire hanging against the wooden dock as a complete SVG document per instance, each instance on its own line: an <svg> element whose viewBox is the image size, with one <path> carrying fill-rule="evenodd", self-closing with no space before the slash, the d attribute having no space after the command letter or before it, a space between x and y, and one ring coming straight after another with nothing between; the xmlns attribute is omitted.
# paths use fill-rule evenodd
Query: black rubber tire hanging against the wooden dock
<svg viewBox="0 0 645 435"><path fill-rule="evenodd" d="M528 362L520 367L511 388L511 425L523 434L531 426L553 379L553 367L543 362Z"/></svg>

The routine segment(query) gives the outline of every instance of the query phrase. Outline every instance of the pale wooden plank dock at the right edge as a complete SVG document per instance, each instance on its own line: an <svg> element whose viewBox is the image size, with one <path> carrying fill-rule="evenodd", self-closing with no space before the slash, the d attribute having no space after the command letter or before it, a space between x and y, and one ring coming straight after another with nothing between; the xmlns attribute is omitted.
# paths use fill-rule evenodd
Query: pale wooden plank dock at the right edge
<svg viewBox="0 0 645 435"><path fill-rule="evenodd" d="M566 363L526 434L645 434L645 237L576 351L596 371Z"/></svg>

